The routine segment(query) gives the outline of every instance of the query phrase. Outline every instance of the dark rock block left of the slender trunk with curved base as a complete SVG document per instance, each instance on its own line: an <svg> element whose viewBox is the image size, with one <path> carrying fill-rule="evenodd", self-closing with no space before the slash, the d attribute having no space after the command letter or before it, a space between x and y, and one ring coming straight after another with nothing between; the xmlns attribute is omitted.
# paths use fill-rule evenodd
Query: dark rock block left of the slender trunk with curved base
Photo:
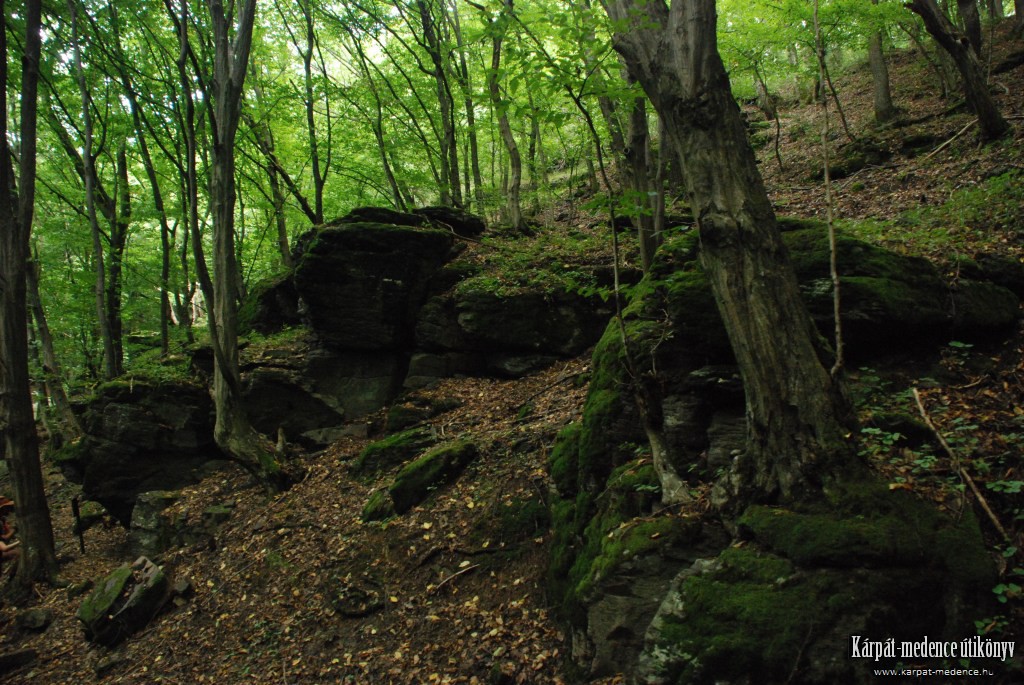
<svg viewBox="0 0 1024 685"><path fill-rule="evenodd" d="M213 402L197 384L108 383L81 421L84 437L55 460L86 498L125 526L139 493L195 482L205 464L222 459L213 440Z"/></svg>

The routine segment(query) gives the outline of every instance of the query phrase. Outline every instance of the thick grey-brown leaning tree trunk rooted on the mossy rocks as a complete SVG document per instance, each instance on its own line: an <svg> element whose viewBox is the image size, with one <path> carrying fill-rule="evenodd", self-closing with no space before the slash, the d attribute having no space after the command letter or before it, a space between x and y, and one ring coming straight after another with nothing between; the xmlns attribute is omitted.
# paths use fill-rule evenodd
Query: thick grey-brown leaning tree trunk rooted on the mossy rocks
<svg viewBox="0 0 1024 685"><path fill-rule="evenodd" d="M734 493L799 498L855 459L840 378L823 363L718 53L714 0L604 0L615 49L665 118L697 217L700 260L746 393Z"/></svg>

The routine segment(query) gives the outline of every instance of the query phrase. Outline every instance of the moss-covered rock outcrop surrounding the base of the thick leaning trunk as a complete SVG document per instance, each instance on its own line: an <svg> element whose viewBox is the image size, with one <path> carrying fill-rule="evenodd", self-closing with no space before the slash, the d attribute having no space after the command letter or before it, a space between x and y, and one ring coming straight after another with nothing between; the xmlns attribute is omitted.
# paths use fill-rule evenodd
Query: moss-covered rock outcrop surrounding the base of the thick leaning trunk
<svg viewBox="0 0 1024 685"><path fill-rule="evenodd" d="M786 227L802 292L828 337L824 230ZM839 248L852 358L984 340L1018 319L1019 301L1002 286L949 285L923 259L852 239ZM973 517L955 521L879 483L731 518L655 513L659 483L649 461L637 461L646 435L627 354L658 390L646 395L660 400L656 428L691 486L715 482L744 448L742 385L695 237L663 246L624 327L627 346L614 323L597 344L583 420L550 457L550 593L585 672L627 671L644 683L866 682L846 657L851 634L955 635L985 610L992 569Z"/></svg>

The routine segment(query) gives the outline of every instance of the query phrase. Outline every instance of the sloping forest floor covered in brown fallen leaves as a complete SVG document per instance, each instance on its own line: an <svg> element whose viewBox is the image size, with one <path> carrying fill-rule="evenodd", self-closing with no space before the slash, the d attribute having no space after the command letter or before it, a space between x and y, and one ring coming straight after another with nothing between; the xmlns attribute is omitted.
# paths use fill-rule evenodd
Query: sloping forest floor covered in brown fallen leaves
<svg viewBox="0 0 1024 685"><path fill-rule="evenodd" d="M1024 43L1000 32L993 65L1022 50ZM892 76L897 103L918 123L876 129L869 121L866 67L838 75L851 131L889 154L834 183L836 215L878 219L870 224L876 226L870 238L943 264L951 249L1020 258L1024 222L1016 214L988 217L990 223L982 225L973 218L978 210L973 206L957 206L961 218L947 216L944 223L921 215L908 220L906 213L948 207L963 197L959 190L1024 169L1024 69L993 77L996 98L1014 118L1014 129L1006 140L985 147L971 131L953 139L971 117L950 111L951 103L938 97L935 79L916 55L895 55ZM849 143L835 110L830 121L839 158ZM812 180L820 167L821 112L791 103L783 106L780 123L781 169L773 141L759 149L773 202L780 213L821 217L823 185ZM911 135L927 144L907 146ZM579 225L573 228L587 224L582 213L574 216ZM950 241L954 248L948 247ZM955 433L953 446L964 451L968 469L992 464L986 456L1014 448L1008 435L1024 434L1022 341L1018 335L991 348L950 348L929 360L934 380L924 391L924 404L941 431ZM198 521L209 505L233 504L212 544L174 550L162 559L174 577L191 583L189 602L110 650L84 641L75 617L80 599L70 599L65 589L40 587L29 605L53 610L45 633L20 632L14 617L24 607L0 606L0 652L38 652L35 662L3 674L3 682L567 682L560 674L568 646L544 593L550 533L538 513L543 507L531 505L546 501L548 449L558 429L580 418L588 367L585 354L517 381L452 379L420 391L460 400L459 408L430 424L441 437L471 435L481 456L454 485L385 523L359 520L370 493L384 481L364 482L348 473L369 439L350 437L323 453L297 456L304 479L270 499L245 473L225 467L184 490L169 512ZM860 369L853 375L861 396L878 408L908 401L898 391L924 373L920 366L896 372L884 376ZM380 426L382 417L370 417L370 425ZM979 468L975 476L991 498L994 516L1020 547L1019 502L1013 493L985 489L996 481L1024 481L1020 443L1017 447L1016 460L999 462L998 472ZM914 455L880 451L872 457L894 486L954 505L956 479L948 469L920 464ZM72 585L95 581L131 561L125 531L115 525L90 529L86 553L80 554L68 505L74 487L56 472L47 477L65 562L61 580ZM1005 571L1024 565L1000 554L1007 546L988 520L982 525ZM1021 601L1009 599L1007 611L987 628L1020 641Z"/></svg>

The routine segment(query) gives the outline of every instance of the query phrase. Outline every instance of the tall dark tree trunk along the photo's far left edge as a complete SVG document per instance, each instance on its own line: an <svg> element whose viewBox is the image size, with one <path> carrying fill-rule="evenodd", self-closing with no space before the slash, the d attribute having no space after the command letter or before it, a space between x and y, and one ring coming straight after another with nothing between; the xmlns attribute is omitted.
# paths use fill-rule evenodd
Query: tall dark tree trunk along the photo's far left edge
<svg viewBox="0 0 1024 685"><path fill-rule="evenodd" d="M0 0L0 15L8 16ZM16 136L10 135L7 115L7 65L15 61L7 52L7 32L0 31L0 439L10 463L17 503L22 541L15 582L24 590L36 581L53 583L57 560L53 525L46 503L39 463L39 438L32 414L29 377L28 308L26 269L29 236L36 189L36 131L38 114L41 9L38 0L25 4L20 122ZM18 175L8 141L17 140Z"/></svg>

